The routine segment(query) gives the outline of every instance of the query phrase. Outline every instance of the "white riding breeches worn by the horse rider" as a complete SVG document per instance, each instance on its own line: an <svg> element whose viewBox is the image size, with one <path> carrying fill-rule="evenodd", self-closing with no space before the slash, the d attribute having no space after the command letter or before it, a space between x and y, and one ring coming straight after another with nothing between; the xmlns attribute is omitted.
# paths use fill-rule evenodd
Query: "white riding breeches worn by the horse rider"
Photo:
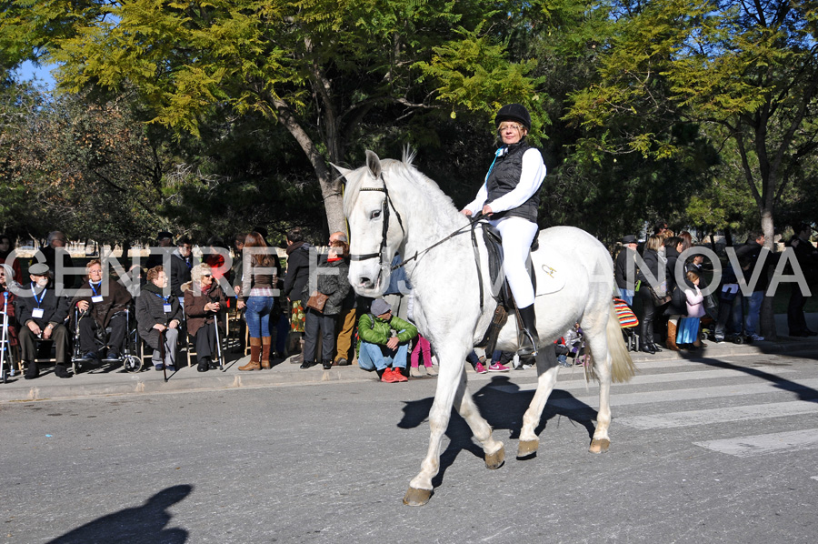
<svg viewBox="0 0 818 544"><path fill-rule="evenodd" d="M517 307L534 304L534 286L525 267L525 259L540 228L523 217L503 217L489 221L503 238L503 272Z"/></svg>

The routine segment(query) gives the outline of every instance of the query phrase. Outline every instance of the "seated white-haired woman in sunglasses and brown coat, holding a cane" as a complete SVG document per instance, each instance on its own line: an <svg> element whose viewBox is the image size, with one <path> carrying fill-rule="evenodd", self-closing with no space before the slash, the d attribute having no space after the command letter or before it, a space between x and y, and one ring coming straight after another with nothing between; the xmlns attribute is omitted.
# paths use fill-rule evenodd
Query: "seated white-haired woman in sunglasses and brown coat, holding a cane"
<svg viewBox="0 0 818 544"><path fill-rule="evenodd" d="M206 372L217 368L213 355L216 343L214 321L219 312L227 307L222 287L213 279L210 265L202 263L191 271L191 281L182 286L185 292L185 317L187 333L195 337L196 370Z"/></svg>

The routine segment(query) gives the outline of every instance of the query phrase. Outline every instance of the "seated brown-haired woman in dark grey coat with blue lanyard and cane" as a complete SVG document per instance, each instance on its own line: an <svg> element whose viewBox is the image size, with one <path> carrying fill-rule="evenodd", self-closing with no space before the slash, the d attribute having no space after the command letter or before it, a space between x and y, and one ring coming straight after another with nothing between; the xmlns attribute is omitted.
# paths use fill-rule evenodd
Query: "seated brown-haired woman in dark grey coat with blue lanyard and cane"
<svg viewBox="0 0 818 544"><path fill-rule="evenodd" d="M142 294L136 298L136 325L139 336L154 349L151 358L154 368L162 370L166 364L167 369L174 372L182 306L167 288L167 281L164 267L153 267L147 271L147 283L142 288ZM165 360L162 360L159 349L162 332L165 332Z"/></svg>

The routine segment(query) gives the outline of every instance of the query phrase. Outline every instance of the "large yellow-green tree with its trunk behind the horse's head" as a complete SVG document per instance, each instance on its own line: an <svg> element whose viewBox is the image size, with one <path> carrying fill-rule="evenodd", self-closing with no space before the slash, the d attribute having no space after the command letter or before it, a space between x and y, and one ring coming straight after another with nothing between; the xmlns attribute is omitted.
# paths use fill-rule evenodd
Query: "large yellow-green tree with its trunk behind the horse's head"
<svg viewBox="0 0 818 544"><path fill-rule="evenodd" d="M513 4L513 3L509 3ZM364 118L436 107L494 111L519 96L524 66L504 55L504 3L472 0L15 0L7 34L60 63L74 92L133 86L151 122L199 134L216 106L280 123L314 170L330 229L343 226L340 181ZM0 35L2 37L2 35ZM11 38L10 38L11 39ZM467 66L450 65L461 62ZM424 64L419 64L424 63ZM440 69L439 69L440 68ZM464 73L441 83L443 72ZM467 73L466 73L467 72ZM513 79L505 77L513 75ZM461 92L463 91L463 92ZM491 93L491 99L486 98ZM443 98L438 101L438 98Z"/></svg>

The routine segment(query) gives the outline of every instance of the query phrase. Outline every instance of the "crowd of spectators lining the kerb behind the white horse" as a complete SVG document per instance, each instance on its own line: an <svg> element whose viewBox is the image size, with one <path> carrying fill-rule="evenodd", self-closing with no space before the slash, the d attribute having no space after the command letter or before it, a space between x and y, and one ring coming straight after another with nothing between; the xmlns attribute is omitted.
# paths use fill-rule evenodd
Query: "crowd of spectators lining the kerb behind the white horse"
<svg viewBox="0 0 818 544"><path fill-rule="evenodd" d="M807 280L810 271L818 269L811 234L810 225L795 228L787 244L794 257L786 274L795 274L793 261ZM250 358L241 371L269 369L284 358L303 369L318 364L330 369L356 360L384 382L402 382L410 375L411 355L411 376L436 375L434 346L412 323L413 297L404 268L396 269L383 298L357 297L347 277L344 233L333 233L327 249L319 251L301 229L290 230L285 270L265 237L261 228L239 233L230 238L229 248L221 238L211 237L199 259L190 238L174 242L173 235L163 231L145 267L135 265L115 277L99 259L85 265L85 276L77 275L65 251L66 237L55 231L47 237L42 256L27 267L24 281L23 259L5 264L14 240L0 236L0 307L7 315L9 346L20 350L24 377L39 376L38 343L46 340L52 343L55 375L60 378L72 376L72 341L74 357L84 364L121 360L130 328L152 352L157 370L175 370L182 335L188 335L196 368L205 372L217 367L217 341L226 332L228 312L239 317L247 331ZM763 340L760 310L781 255L767 252L764 243L763 233L751 232L734 259L728 259L722 277L715 278L718 283L708 288L702 253L687 251L694 248L690 233L675 236L662 221L642 244L633 235L623 237L614 257L614 279L623 301L639 317L640 349L653 354L700 348L703 327L717 342L731 336ZM228 258L230 266L225 265ZM752 289L748 292L746 286ZM791 286L789 334L815 336L803 314L806 285ZM65 289L76 287L81 287L77 294L65 294ZM504 372L513 356L497 351L485 361L473 353L469 361L480 373Z"/></svg>

